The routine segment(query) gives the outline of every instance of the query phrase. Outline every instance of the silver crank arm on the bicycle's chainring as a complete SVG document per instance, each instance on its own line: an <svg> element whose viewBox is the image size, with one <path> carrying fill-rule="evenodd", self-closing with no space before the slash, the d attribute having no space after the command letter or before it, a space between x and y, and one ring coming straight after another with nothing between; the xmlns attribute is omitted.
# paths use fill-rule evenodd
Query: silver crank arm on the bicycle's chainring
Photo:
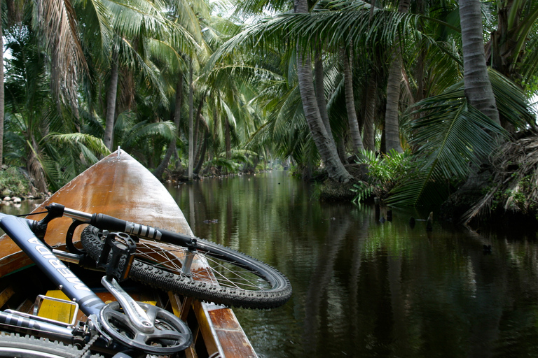
<svg viewBox="0 0 538 358"><path fill-rule="evenodd" d="M112 296L114 296L120 306L123 308L125 315L129 317L132 325L135 326L142 332L151 333L155 330L152 320L149 319L146 311L139 306L137 301L132 299L127 292L114 280L107 280L106 276L103 276L101 283L106 288Z"/></svg>

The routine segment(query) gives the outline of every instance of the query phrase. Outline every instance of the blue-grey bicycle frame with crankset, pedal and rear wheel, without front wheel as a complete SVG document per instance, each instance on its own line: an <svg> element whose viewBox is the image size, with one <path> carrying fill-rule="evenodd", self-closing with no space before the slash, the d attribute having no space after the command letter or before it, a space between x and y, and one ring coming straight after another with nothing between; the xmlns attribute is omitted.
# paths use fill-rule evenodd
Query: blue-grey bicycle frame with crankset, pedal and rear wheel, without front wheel
<svg viewBox="0 0 538 358"><path fill-rule="evenodd" d="M48 216L47 220L52 218ZM32 334L0 334L1 357L101 357L100 353L115 358L172 356L191 345L193 336L185 322L163 308L133 300L118 284L129 270L127 262L121 268L118 262L132 262L136 247L132 238L121 233L106 235L104 255L99 259L106 272L101 283L117 301L104 303L59 259L62 255L66 259L69 253L53 252L38 238L46 231L46 224L46 220L35 222L0 214L1 229L69 298L57 301L73 304L75 311L80 308L88 320L77 323L76 312L71 322L60 322L41 317L35 310L34 314L0 311L3 329Z"/></svg>

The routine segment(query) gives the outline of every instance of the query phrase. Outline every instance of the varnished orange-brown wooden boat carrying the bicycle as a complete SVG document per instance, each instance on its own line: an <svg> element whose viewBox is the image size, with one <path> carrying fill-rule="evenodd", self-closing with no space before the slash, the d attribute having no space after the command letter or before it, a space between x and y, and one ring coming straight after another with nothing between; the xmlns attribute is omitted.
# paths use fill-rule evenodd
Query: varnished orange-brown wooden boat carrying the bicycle
<svg viewBox="0 0 538 358"><path fill-rule="evenodd" d="M67 208L86 213L104 213L193 235L183 213L167 189L142 164L123 150L113 152L71 180L36 208L34 213L45 211L44 207L48 203L61 203ZM44 214L34 215L32 219L40 220L43 217ZM45 241L56 248L64 247L65 234L70 224L71 220L67 217L50 222ZM80 240L81 231L82 229L75 231L75 243ZM45 294L39 292L39 289L48 290L49 296L58 294L54 289L49 289L54 287L46 287L43 283L46 279L41 278L41 273L32 268L29 258L6 235L0 238L0 253L1 309L12 308L29 312L33 309L35 294ZM73 266L71 269L76 270ZM92 280L88 270L75 272L81 275L85 282ZM95 276L100 279L102 273ZM95 287L98 286L96 283ZM194 341L186 350L186 357L256 357L256 352L230 308L196 301L172 292L163 297L158 290L149 287L126 290L134 292L133 297L139 301L160 302L161 306L188 322ZM102 295L109 299L105 294ZM52 308L50 311L52 312L43 311L41 314L59 314L59 309Z"/></svg>

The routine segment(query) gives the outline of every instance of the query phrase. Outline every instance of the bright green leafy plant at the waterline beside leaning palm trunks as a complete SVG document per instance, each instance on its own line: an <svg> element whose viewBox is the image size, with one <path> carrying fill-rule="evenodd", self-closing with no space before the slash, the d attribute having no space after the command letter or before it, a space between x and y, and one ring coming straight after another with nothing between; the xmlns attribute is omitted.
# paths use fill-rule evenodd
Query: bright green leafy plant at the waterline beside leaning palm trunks
<svg viewBox="0 0 538 358"><path fill-rule="evenodd" d="M366 180L353 185L351 190L357 193L353 202L360 203L372 195L385 199L389 192L408 175L410 158L409 151L399 153L391 150L386 155L377 156L370 150L361 150L357 164L366 165L368 174Z"/></svg>

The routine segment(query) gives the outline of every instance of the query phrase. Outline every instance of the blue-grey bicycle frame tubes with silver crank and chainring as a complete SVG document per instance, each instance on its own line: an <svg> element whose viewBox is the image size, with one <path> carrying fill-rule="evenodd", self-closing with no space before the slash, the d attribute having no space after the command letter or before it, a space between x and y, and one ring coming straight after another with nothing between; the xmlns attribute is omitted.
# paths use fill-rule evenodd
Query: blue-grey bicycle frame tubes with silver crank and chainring
<svg viewBox="0 0 538 358"><path fill-rule="evenodd" d="M52 218L58 217L56 214L53 214L52 216ZM48 221L50 221L50 217L48 218ZM169 317L167 322L172 322L172 326L175 324L174 327L177 327L180 331L177 331L177 334L171 334L170 329L158 329L153 320L158 322L156 317L163 317L162 315L164 313L160 313L160 310L162 309L151 308L151 306L148 305L145 306L145 309L142 308L140 305L145 305L145 303L139 304L133 300L132 297L118 285L118 282L116 282L116 279L114 278L117 276L113 274L107 274L101 280L102 285L104 285L117 300L117 302L115 302L116 305L106 305L97 294L92 292L92 290L53 253L51 248L49 248L44 241L41 241L34 234L32 229L36 229L36 226L39 226L40 223L41 225L44 225L46 231L46 223L48 221L44 220L36 223L32 220L25 220L0 213L0 228L4 229L6 234L8 234L19 248L32 259L36 266L38 266L71 301L78 305L83 313L88 316L88 322L87 324L83 324L83 329L80 329L74 327L73 324L64 324L36 315L6 310L0 312L1 326L8 326L12 330L18 332L51 338L54 341L64 341L69 344L73 344L76 339L81 338L81 333L82 336L88 336L89 333L90 336L95 336L95 339L99 337L104 338L104 344L113 348L113 350L121 350L121 347L123 346L123 350L125 350L126 347L135 348L148 353L163 352L163 354L166 354L178 352L191 344L192 335L190 331L188 331L188 328L184 326L183 322L176 321L181 322L178 326L177 323L174 323L174 320L177 320L177 318L174 317L172 319L172 317L168 315L165 316ZM41 227L41 229L43 229L43 227ZM106 255L106 257L108 257L108 255ZM117 264L117 261L111 260L111 262L106 265L113 267L115 264ZM119 312L120 309L123 310L123 313L115 313ZM118 314L120 317L125 316L125 319L120 318L120 320L125 320L125 322L128 321L129 327L132 327L132 329L138 332L133 338L127 338L121 334L118 336L116 331L114 331L113 326L111 326L113 323L111 323L107 317L116 315L114 316L114 319L116 319ZM73 322L76 322L76 320ZM102 326L105 327L104 330L106 333L102 329ZM91 333L90 331L95 333ZM184 331L188 332L188 334ZM114 334L116 334L116 336L114 336ZM170 341L172 343L164 348L152 348L152 341L146 345L145 339L147 338L151 340L153 337L163 337L165 340L172 340ZM179 339L179 341L174 341L174 339Z"/></svg>

